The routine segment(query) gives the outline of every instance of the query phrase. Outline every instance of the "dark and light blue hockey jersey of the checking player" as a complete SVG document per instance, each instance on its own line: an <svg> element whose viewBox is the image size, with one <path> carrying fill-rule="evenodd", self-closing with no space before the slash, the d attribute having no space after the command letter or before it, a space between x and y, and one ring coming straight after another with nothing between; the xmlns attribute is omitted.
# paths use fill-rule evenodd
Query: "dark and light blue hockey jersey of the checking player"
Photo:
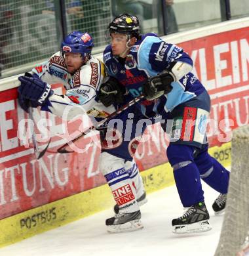
<svg viewBox="0 0 249 256"><path fill-rule="evenodd" d="M142 35L142 38L131 47L125 59L113 56L111 45L107 45L103 60L107 74L119 79L126 87L130 98L140 95L147 78L168 69L172 62L183 62L193 66L191 58L182 48L166 43L154 33ZM140 103L145 116L171 112L179 104L191 100L205 90L199 79L191 72L183 74L171 85L173 89L168 95ZM127 100L130 98L127 97Z"/></svg>

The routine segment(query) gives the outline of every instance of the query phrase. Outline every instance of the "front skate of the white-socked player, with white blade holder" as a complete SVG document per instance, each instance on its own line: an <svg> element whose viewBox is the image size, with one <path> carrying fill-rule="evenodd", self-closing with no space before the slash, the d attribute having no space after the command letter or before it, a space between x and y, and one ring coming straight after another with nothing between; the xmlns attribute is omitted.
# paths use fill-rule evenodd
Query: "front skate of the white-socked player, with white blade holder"
<svg viewBox="0 0 249 256"><path fill-rule="evenodd" d="M117 213L115 217L105 221L107 232L121 233L142 229L144 226L140 219L141 212L139 210L134 213Z"/></svg>

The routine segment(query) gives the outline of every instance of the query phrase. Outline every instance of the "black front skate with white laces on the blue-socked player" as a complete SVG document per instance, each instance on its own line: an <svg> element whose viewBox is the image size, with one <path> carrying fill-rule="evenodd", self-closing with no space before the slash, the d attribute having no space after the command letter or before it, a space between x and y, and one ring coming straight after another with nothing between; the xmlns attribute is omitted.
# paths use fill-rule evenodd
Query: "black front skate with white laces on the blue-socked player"
<svg viewBox="0 0 249 256"><path fill-rule="evenodd" d="M172 220L173 232L178 234L204 232L212 228L208 223L209 214L204 202L196 203L178 219Z"/></svg>

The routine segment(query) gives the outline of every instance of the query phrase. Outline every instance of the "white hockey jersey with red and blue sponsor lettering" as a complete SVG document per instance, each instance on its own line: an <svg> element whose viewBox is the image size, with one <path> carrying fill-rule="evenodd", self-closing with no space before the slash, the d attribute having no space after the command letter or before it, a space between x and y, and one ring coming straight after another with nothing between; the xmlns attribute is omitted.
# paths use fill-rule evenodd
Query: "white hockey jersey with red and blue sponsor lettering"
<svg viewBox="0 0 249 256"><path fill-rule="evenodd" d="M94 117L106 117L115 111L113 106L106 108L96 100L105 72L104 64L94 56L73 75L67 72L65 59L60 52L33 68L32 72L39 75L44 82L50 85L62 83L66 89L66 95L51 95L41 110L47 110L66 120L84 113Z"/></svg>

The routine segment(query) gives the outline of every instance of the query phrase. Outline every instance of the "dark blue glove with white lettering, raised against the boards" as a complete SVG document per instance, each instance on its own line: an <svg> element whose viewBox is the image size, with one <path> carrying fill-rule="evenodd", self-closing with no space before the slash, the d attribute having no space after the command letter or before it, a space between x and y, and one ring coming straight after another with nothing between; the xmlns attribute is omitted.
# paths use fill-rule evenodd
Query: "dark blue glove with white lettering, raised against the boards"
<svg viewBox="0 0 249 256"><path fill-rule="evenodd" d="M20 87L18 87L19 95L26 100L31 100L32 104L43 106L46 104L49 96L54 93L51 86L39 78L25 75L18 77L18 79L21 82Z"/></svg>

